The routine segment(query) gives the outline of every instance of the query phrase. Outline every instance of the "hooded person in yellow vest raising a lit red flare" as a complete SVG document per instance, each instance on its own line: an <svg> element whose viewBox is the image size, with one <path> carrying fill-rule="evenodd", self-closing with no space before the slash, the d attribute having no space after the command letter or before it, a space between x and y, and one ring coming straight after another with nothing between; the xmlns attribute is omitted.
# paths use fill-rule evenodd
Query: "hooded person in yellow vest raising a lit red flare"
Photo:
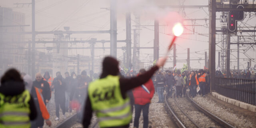
<svg viewBox="0 0 256 128"><path fill-rule="evenodd" d="M100 79L88 86L82 120L84 128L90 125L93 111L96 112L100 128L128 128L132 120L128 90L146 83L165 61L166 58L160 58L156 66L137 77L120 78L118 61L112 57L105 57Z"/></svg>

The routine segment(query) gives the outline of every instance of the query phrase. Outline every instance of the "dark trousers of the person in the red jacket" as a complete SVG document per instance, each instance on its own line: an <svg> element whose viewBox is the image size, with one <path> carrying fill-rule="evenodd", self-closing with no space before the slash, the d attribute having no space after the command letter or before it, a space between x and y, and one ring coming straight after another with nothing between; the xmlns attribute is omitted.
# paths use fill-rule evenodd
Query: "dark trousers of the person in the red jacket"
<svg viewBox="0 0 256 128"><path fill-rule="evenodd" d="M143 113L143 128L148 128L148 109L149 109L149 104L145 105L138 105L134 104L135 107L135 117L134 117L134 127L139 128L139 119L140 119L140 113L142 110Z"/></svg>

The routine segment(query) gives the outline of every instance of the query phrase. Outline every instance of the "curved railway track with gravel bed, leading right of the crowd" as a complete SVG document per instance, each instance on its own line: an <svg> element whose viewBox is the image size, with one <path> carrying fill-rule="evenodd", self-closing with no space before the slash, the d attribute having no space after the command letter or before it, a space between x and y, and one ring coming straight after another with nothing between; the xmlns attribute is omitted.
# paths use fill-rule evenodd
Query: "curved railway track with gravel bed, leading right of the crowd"
<svg viewBox="0 0 256 128"><path fill-rule="evenodd" d="M168 99L167 95L165 95L164 100L168 112L179 128L234 128L234 126L199 106L188 94L186 98L180 98L179 100L176 100L176 98Z"/></svg>

